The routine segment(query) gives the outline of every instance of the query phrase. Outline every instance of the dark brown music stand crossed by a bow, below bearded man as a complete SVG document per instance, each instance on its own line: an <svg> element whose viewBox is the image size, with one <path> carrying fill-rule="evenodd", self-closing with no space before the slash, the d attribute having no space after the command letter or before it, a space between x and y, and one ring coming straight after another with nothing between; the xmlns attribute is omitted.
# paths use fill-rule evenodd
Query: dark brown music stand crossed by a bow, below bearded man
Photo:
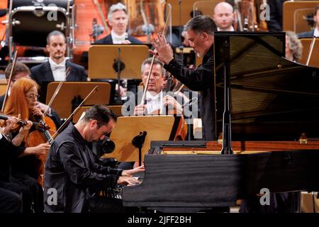
<svg viewBox="0 0 319 227"><path fill-rule="evenodd" d="M47 84L45 104L49 103L59 83L50 82L50 84ZM99 86L98 91L86 102L86 105L108 104L111 94L111 85L108 82L65 82L52 102L51 107L57 111L60 118L68 118L72 113L74 97L79 96L79 99L84 99L96 86Z"/></svg>

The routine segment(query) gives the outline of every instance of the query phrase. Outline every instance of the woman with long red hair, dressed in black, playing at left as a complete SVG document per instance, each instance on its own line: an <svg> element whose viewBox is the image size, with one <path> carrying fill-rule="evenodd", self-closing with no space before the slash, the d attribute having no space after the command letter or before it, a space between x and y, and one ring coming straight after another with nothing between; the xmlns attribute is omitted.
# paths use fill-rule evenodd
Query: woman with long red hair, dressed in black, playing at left
<svg viewBox="0 0 319 227"><path fill-rule="evenodd" d="M38 108L38 84L33 79L18 79L11 89L11 95L6 103L4 114L18 116L22 119L28 118L30 121L45 122L43 112ZM31 130L34 130L31 128ZM39 145L28 147L28 138L30 131L25 135L23 143L19 149L23 150L21 155L14 159L11 166L11 175L18 183L25 185L33 196L35 212L43 211L43 189L38 184L38 165L39 161L36 155L46 155L50 145L40 143Z"/></svg>

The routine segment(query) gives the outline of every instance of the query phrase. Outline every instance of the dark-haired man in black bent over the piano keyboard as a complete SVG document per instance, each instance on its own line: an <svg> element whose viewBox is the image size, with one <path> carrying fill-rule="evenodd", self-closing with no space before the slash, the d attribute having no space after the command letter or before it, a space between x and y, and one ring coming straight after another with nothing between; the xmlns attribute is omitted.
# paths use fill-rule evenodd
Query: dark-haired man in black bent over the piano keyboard
<svg viewBox="0 0 319 227"><path fill-rule="evenodd" d="M121 199L101 197L96 189L116 184L138 184L133 170L112 169L96 164L92 142L103 140L116 125L116 115L106 106L92 106L84 118L57 135L45 166L45 211L123 212ZM52 194L52 189L55 192Z"/></svg>

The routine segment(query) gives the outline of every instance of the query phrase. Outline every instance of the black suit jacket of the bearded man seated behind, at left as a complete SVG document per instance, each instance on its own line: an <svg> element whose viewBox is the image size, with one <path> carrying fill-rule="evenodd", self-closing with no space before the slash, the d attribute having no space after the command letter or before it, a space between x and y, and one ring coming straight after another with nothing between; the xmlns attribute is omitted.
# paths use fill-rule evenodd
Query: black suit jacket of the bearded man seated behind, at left
<svg viewBox="0 0 319 227"><path fill-rule="evenodd" d="M74 64L69 60L66 61L65 65L66 68L71 67L71 72L67 77L67 81L87 81L87 75L85 74L83 66ZM31 78L34 79L40 87L45 81L55 81L50 67L50 62L43 62L40 65L32 67Z"/></svg>

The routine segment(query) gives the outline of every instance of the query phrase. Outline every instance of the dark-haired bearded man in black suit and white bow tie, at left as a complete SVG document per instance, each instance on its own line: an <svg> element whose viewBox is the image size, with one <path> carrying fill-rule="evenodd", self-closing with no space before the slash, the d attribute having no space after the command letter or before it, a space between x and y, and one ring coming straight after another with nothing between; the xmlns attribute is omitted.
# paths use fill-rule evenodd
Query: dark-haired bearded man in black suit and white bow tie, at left
<svg viewBox="0 0 319 227"><path fill-rule="evenodd" d="M74 64L65 59L67 48L65 35L60 31L52 31L47 35L47 52L49 60L31 68L30 77L34 79L40 87L45 81L62 81L65 79L67 68L71 68L67 81L87 81L84 67Z"/></svg>

